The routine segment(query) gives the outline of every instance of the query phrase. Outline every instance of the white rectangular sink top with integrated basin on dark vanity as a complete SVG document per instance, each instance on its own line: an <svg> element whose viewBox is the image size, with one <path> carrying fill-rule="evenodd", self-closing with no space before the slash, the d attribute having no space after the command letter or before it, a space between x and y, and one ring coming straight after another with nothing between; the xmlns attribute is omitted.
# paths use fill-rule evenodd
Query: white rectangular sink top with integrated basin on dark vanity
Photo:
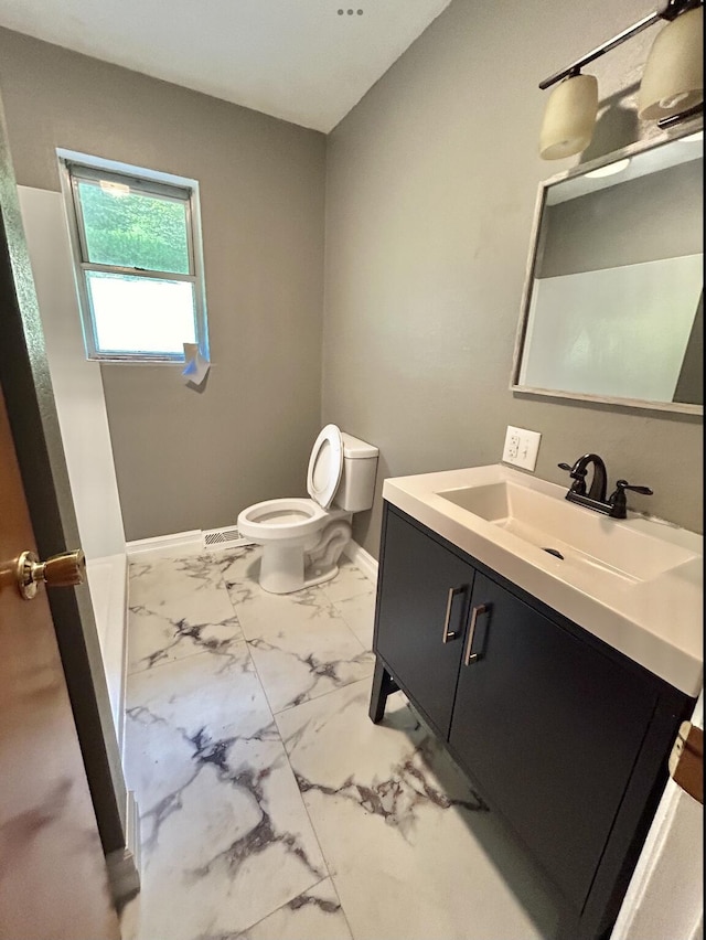
<svg viewBox="0 0 706 940"><path fill-rule="evenodd" d="M383 498L688 695L703 684L703 537L568 502L503 464L385 480ZM547 548L556 554L548 553Z"/></svg>

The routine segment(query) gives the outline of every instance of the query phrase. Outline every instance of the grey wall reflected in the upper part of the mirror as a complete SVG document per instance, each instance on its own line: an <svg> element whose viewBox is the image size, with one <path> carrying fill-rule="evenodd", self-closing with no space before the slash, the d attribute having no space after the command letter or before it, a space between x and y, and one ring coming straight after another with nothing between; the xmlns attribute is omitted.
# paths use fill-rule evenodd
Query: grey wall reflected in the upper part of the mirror
<svg viewBox="0 0 706 940"><path fill-rule="evenodd" d="M704 161L691 160L545 206L536 277L700 254L703 180Z"/></svg>

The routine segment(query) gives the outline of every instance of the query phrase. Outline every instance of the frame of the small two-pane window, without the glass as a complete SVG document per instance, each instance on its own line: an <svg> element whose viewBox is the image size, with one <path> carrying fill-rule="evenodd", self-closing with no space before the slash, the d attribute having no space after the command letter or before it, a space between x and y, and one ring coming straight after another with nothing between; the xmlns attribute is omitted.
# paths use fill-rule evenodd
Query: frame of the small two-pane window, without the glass
<svg viewBox="0 0 706 940"><path fill-rule="evenodd" d="M86 349L86 359L96 362L148 363L152 365L183 364L184 353L181 352L147 352L138 350L110 350L104 352L98 348L98 335L90 303L87 275L89 271L127 275L140 278L151 278L161 281L186 281L193 285L195 342L204 359L210 359L208 323L206 316L205 281L203 270L203 245L201 238L201 207L199 201L199 182L170 173L146 170L127 163L118 163L99 157L57 149L60 175L68 234L72 247L74 280L78 297L81 324ZM83 217L83 206L78 194L78 184L83 180L98 183L114 182L129 184L133 190L169 199L184 204L186 220L186 247L189 253L189 274L159 271L139 267L122 267L105 265L88 259L86 229Z"/></svg>

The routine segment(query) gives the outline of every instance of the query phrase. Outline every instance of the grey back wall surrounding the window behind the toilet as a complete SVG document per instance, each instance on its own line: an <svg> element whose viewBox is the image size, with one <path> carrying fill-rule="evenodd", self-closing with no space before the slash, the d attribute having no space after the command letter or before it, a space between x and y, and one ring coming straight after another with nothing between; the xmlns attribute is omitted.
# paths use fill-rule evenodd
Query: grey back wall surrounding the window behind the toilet
<svg viewBox="0 0 706 940"><path fill-rule="evenodd" d="M319 430L325 138L0 29L18 183L58 190L65 147L200 181L211 351L101 366L128 540L306 494Z"/></svg>

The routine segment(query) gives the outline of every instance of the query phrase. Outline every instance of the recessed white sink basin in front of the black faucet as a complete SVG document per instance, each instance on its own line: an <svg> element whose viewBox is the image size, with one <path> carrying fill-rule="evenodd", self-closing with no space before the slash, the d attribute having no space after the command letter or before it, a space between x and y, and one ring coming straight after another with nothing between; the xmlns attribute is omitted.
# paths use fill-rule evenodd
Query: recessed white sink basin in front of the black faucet
<svg viewBox="0 0 706 940"><path fill-rule="evenodd" d="M550 549L566 566L628 583L650 581L697 557L680 545L521 483L501 481L438 495L536 548Z"/></svg>

